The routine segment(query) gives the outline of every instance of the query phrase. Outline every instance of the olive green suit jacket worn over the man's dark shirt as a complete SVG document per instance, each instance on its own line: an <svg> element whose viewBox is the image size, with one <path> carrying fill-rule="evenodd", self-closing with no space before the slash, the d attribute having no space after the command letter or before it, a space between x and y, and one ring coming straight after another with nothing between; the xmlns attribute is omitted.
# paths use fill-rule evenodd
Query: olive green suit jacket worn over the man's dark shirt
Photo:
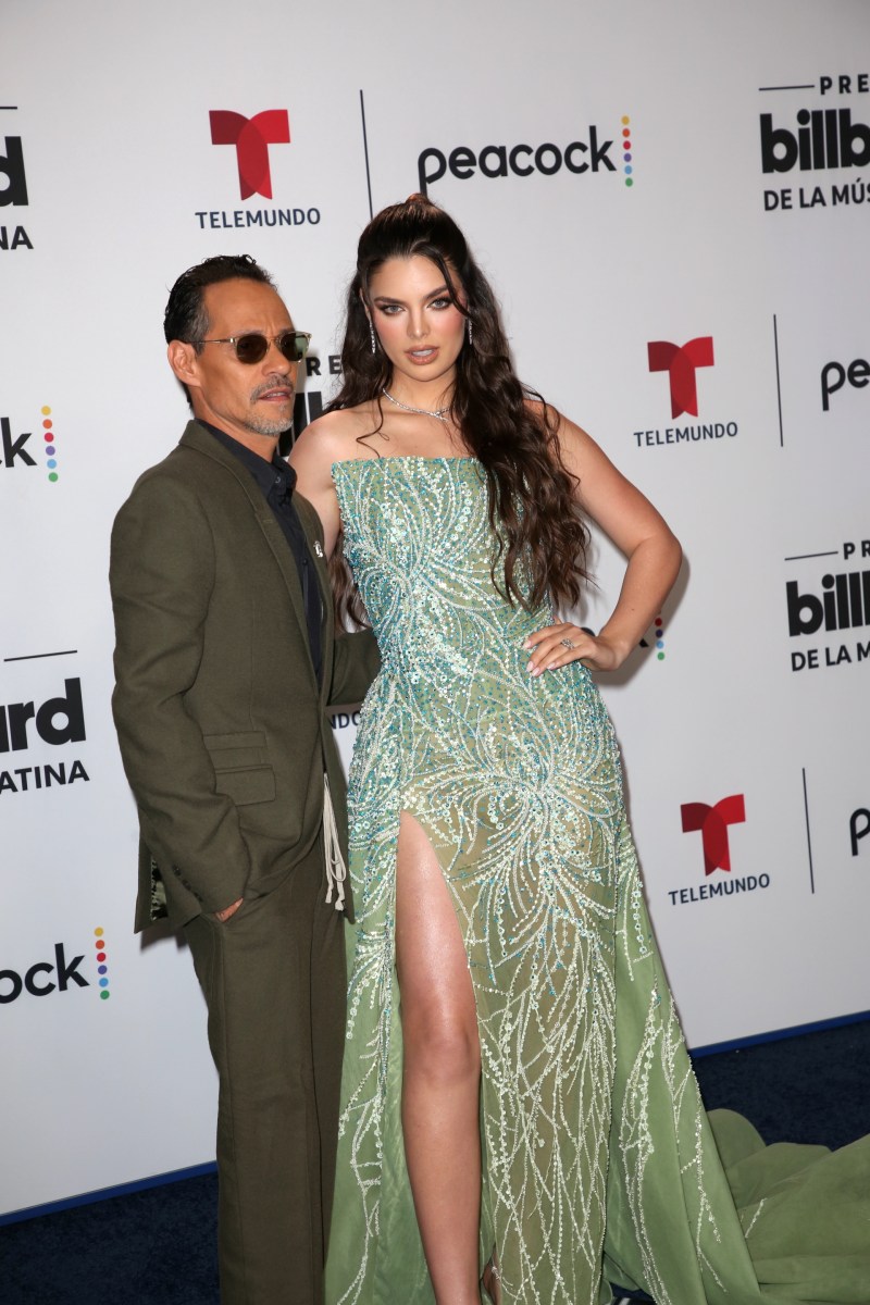
<svg viewBox="0 0 870 1305"><path fill-rule="evenodd" d="M209 431L190 422L115 521L112 709L138 806L137 929L267 895L322 838L323 773L347 852L326 709L363 698L378 654L370 632L335 637L320 519L293 502L321 590L320 685L292 552Z"/></svg>

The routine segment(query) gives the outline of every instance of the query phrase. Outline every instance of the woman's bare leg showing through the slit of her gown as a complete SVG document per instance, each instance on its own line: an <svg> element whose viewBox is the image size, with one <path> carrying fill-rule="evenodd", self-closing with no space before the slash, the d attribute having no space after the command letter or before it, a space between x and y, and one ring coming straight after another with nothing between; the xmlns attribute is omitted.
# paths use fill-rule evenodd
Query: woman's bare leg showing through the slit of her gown
<svg viewBox="0 0 870 1305"><path fill-rule="evenodd" d="M432 844L402 813L395 963L404 1155L438 1305L479 1305L480 1044L468 959Z"/></svg>

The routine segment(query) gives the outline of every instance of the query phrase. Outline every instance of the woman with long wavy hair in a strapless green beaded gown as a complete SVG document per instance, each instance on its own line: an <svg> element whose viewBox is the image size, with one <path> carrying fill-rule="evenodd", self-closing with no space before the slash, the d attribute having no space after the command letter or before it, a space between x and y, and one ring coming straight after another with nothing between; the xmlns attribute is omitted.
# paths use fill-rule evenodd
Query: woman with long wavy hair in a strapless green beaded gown
<svg viewBox="0 0 870 1305"><path fill-rule="evenodd" d="M676 539L517 380L421 196L360 239L342 363L292 454L382 655L350 776L327 1305L870 1301L866 1148L766 1151L737 1116L713 1138L652 938L590 671L660 611ZM558 617L584 518L627 559L597 637Z"/></svg>

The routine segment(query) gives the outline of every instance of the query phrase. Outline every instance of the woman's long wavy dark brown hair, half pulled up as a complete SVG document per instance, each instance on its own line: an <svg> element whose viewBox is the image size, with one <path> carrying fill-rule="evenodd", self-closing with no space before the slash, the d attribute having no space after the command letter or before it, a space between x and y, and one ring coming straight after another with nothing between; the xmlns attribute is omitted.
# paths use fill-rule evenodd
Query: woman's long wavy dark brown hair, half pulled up
<svg viewBox="0 0 870 1305"><path fill-rule="evenodd" d="M574 607L588 578L588 531L574 499L577 479L560 457L556 414L514 373L496 298L462 231L421 194L383 209L360 236L356 274L347 291L342 388L326 411L376 402L381 411L376 431L381 428L381 392L390 384L391 364L382 350L372 352L368 287L387 258L415 256L436 264L472 326L473 343L466 339L457 360L450 416L487 476L496 538L493 583L527 611L548 596L554 607ZM339 615L361 624L363 608L340 557L340 540L333 560Z"/></svg>

